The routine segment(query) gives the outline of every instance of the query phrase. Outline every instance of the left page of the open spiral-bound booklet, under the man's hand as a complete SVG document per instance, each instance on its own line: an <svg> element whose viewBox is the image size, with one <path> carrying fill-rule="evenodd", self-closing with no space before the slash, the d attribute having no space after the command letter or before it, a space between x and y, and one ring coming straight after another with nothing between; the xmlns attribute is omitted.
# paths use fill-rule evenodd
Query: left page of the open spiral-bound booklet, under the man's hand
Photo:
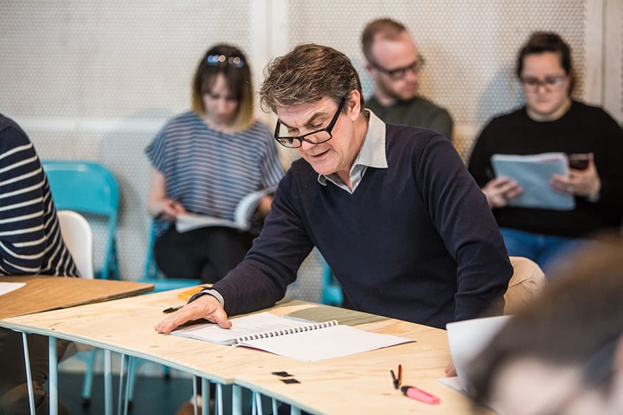
<svg viewBox="0 0 623 415"><path fill-rule="evenodd" d="M291 329L305 324L316 324L316 322L311 322L309 320L282 317L266 312L233 318L230 321L231 329L222 329L217 324L208 323L192 326L188 329L173 331L171 334L206 340L207 342L213 343L232 344L233 339L245 335L253 335L264 331Z"/></svg>

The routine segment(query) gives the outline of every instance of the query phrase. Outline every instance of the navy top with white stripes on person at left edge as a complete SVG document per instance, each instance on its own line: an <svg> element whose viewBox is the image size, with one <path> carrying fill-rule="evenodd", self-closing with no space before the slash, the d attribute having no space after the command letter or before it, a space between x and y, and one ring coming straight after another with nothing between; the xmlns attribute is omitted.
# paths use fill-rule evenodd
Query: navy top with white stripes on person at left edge
<svg viewBox="0 0 623 415"><path fill-rule="evenodd" d="M0 274L78 276L35 147L1 115Z"/></svg>

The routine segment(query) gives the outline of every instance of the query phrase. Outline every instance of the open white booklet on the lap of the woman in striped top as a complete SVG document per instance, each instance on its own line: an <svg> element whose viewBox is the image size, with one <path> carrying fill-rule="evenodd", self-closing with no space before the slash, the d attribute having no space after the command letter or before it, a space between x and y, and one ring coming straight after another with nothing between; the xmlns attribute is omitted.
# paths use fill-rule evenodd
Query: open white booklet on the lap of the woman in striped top
<svg viewBox="0 0 623 415"><path fill-rule="evenodd" d="M228 228L235 228L239 230L249 230L251 228L251 216L253 212L258 208L258 203L262 196L274 193L276 187L268 187L257 192L251 192L240 199L240 202L236 205L233 221L229 219L217 218L215 216L208 216L206 214L198 214L188 212L187 214L180 214L175 220L175 229L177 232L187 232L189 230L203 228L204 226L226 226Z"/></svg>

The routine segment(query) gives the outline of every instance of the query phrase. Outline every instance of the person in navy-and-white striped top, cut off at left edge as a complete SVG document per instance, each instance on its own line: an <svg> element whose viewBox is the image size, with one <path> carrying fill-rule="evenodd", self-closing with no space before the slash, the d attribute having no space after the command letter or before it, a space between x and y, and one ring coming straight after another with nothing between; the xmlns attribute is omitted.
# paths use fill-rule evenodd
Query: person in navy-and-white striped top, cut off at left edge
<svg viewBox="0 0 623 415"><path fill-rule="evenodd" d="M19 125L0 114L0 275L78 277L66 248L35 147ZM62 356L67 342L59 341ZM30 369L37 414L46 414L48 339L28 335ZM21 335L0 329L0 414L28 412L24 350ZM60 414L69 414L59 405Z"/></svg>

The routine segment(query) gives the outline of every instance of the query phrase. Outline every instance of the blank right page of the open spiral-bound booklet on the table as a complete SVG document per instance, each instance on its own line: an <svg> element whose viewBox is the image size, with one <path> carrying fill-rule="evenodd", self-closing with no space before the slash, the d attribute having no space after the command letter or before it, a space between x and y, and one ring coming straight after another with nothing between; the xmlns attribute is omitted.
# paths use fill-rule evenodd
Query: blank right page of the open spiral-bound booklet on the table
<svg viewBox="0 0 623 415"><path fill-rule="evenodd" d="M244 342L254 347L297 360L338 358L395 344L415 342L395 335L370 333L350 326L331 326L323 329L293 333L275 338L264 338Z"/></svg>

